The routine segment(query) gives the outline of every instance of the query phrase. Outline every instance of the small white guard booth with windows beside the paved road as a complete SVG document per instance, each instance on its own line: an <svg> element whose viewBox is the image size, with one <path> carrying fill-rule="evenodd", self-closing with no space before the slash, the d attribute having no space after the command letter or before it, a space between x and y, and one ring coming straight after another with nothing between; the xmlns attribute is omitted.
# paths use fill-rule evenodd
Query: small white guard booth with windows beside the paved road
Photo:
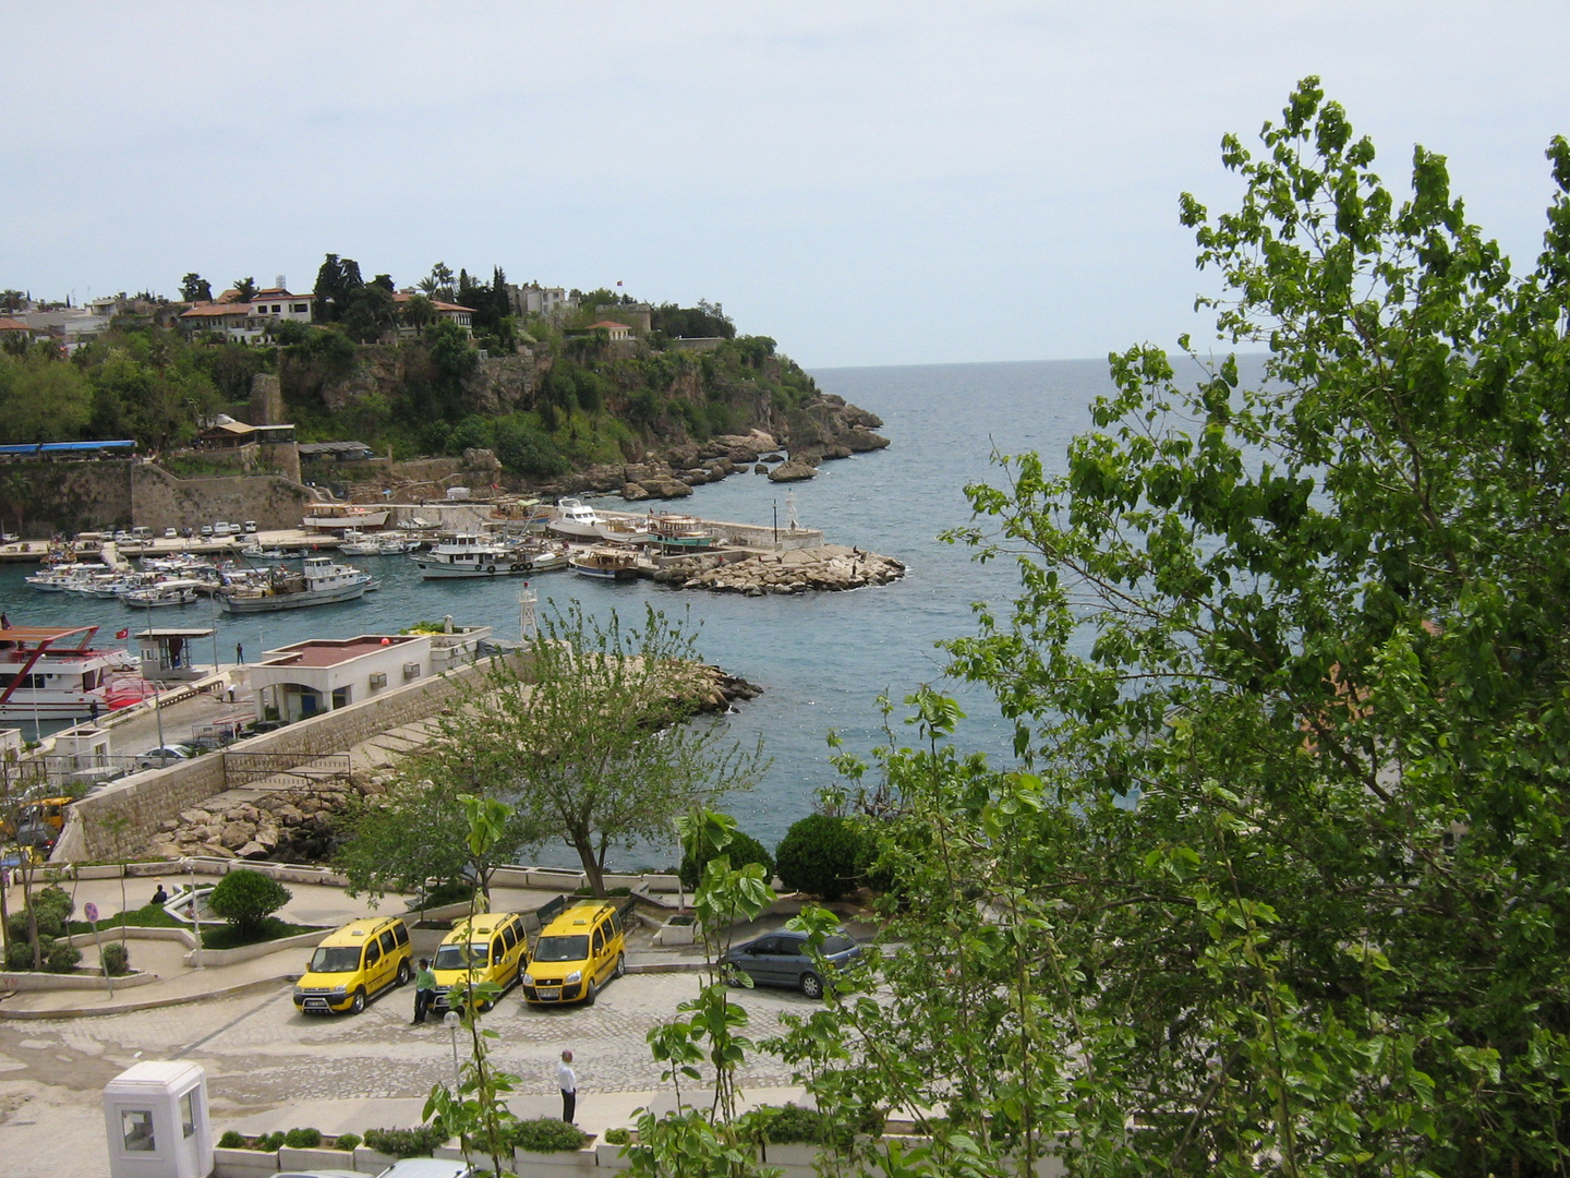
<svg viewBox="0 0 1570 1178"><path fill-rule="evenodd" d="M195 1063L143 1060L104 1088L110 1178L207 1178L212 1121L207 1073Z"/></svg>

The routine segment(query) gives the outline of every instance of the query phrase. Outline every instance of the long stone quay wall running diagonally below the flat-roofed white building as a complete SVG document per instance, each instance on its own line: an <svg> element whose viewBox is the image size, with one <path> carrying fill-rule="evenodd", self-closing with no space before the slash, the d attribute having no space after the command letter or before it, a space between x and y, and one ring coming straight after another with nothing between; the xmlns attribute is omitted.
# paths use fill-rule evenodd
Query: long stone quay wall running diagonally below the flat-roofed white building
<svg viewBox="0 0 1570 1178"><path fill-rule="evenodd" d="M372 737L425 719L466 691L484 674L484 663L388 691L336 712L251 737L220 752L192 757L179 765L146 770L115 782L102 793L71 807L61 847L82 859L126 859L143 854L166 818L199 806L228 788L225 752L270 752L297 759L341 754ZM77 829L72 829L77 828Z"/></svg>

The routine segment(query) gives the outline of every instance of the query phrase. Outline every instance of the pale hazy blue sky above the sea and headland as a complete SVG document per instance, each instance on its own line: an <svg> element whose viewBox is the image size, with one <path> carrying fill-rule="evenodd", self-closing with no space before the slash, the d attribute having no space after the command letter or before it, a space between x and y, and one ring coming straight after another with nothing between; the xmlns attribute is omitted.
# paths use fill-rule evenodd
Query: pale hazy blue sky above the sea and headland
<svg viewBox="0 0 1570 1178"><path fill-rule="evenodd" d="M82 302L327 253L722 303L809 368L1206 338L1193 234L1317 74L1523 269L1570 5L0 0L0 287Z"/></svg>

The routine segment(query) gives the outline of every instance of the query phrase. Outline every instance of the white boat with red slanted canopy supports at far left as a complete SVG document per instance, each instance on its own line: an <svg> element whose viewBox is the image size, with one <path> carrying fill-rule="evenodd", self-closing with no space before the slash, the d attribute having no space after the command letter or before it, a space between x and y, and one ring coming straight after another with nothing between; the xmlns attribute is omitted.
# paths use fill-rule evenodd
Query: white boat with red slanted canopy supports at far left
<svg viewBox="0 0 1570 1178"><path fill-rule="evenodd" d="M140 680L119 647L94 649L96 625L0 630L0 719L86 719L140 699L111 685Z"/></svg>

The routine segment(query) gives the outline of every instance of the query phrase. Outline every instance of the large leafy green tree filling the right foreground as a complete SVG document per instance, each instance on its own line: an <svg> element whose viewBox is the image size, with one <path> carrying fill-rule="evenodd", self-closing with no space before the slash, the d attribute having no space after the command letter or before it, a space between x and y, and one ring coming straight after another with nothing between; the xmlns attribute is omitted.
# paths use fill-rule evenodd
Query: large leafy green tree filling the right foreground
<svg viewBox="0 0 1570 1178"><path fill-rule="evenodd" d="M790 1040L820 1104L942 1103L939 1170L1570 1159L1570 146L1515 275L1441 157L1389 192L1317 80L1262 141L1225 140L1234 212L1182 217L1264 380L1134 349L1064 474L970 488L1020 595L950 649L1031 773L912 697L911 950Z"/></svg>

